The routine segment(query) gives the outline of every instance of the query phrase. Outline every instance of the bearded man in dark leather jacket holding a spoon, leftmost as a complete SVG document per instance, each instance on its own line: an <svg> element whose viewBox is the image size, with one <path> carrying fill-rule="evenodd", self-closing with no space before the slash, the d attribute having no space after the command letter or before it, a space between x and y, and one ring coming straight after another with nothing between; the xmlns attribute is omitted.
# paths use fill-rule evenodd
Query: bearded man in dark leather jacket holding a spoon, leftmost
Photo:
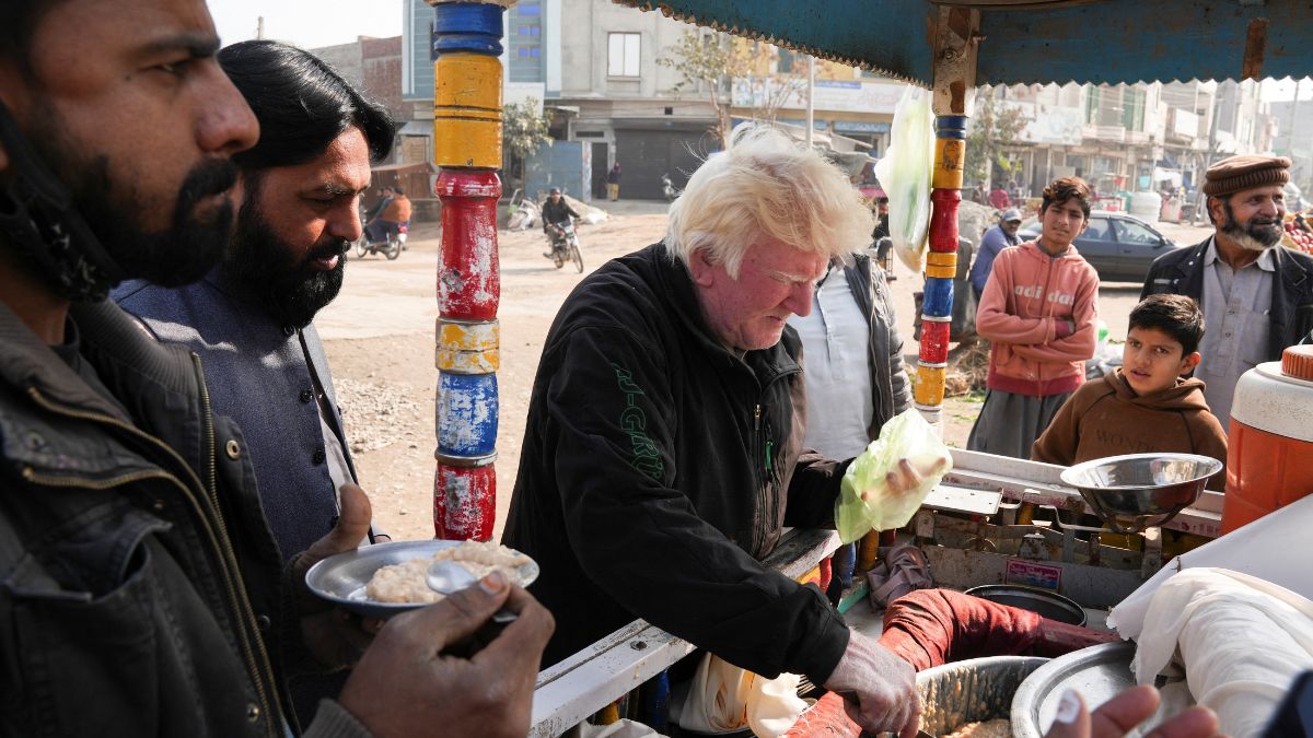
<svg viewBox="0 0 1313 738"><path fill-rule="evenodd" d="M368 498L284 569L200 360L105 299L223 253L259 131L217 50L200 0L0 4L0 735L282 738L286 672L361 651L306 734L524 735L550 616L484 580L365 650L303 578ZM440 655L507 604L479 661Z"/></svg>

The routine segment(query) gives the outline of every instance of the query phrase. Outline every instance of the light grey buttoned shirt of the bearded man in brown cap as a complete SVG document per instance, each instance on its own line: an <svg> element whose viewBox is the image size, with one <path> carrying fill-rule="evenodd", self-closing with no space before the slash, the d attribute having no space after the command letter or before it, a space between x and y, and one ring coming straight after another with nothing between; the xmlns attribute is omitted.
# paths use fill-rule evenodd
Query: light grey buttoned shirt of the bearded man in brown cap
<svg viewBox="0 0 1313 738"><path fill-rule="evenodd" d="M1280 248L1280 247L1278 247ZM1204 251L1203 356L1195 377L1204 381L1204 401L1222 428L1230 428L1230 406L1241 374L1267 361L1267 334L1272 323L1272 251L1234 271L1217 257L1217 240Z"/></svg>

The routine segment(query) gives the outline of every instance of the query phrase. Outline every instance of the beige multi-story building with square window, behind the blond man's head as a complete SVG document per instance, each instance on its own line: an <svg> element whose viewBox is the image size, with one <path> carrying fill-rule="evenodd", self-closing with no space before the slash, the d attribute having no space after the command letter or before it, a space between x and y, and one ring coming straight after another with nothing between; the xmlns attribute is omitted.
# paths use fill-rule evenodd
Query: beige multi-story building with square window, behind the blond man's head
<svg viewBox="0 0 1313 738"><path fill-rule="evenodd" d="M433 9L424 0L404 1L402 98L416 104L407 133L432 127L432 112L421 109L433 98L432 22ZM658 62L674 56L687 32L710 32L611 0L520 0L507 11L506 29L504 97L545 100L553 137L578 147L588 167L580 185L590 192L578 194L601 196L607 172L618 162L625 197L659 198L663 175L681 186L720 147L712 133L713 91L696 83L681 87L683 75ZM792 53L779 54L780 66L801 63ZM884 150L902 87L847 67L818 64L818 70L814 108L825 135L855 139L844 141L848 147ZM779 66L771 70L779 71ZM751 85L726 84L716 92L733 105L731 116L750 118L752 104L735 95L738 89ZM802 123L804 101L802 95L790 98L779 119Z"/></svg>

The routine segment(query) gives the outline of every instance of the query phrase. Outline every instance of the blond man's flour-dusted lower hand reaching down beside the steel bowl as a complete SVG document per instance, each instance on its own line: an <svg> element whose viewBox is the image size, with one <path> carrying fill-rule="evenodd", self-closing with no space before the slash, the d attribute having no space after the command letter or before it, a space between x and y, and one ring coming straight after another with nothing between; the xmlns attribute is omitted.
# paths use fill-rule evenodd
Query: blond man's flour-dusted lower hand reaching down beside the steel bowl
<svg viewBox="0 0 1313 738"><path fill-rule="evenodd" d="M848 717L863 731L897 733L915 738L920 725L920 696L911 664L865 636L852 632L848 649L825 688L844 696Z"/></svg>

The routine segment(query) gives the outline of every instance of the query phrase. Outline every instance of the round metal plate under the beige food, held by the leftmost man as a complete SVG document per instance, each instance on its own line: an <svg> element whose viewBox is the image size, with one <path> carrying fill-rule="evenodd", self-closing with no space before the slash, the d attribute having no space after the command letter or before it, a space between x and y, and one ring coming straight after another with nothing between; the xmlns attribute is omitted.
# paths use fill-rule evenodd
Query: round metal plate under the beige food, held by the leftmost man
<svg viewBox="0 0 1313 738"><path fill-rule="evenodd" d="M353 552L331 555L310 567L306 584L315 595L364 615L365 617L391 617L424 607L419 603L379 603L365 596L365 584L374 573L393 563L415 558L428 558L442 549L452 549L461 541L397 541L364 546ZM516 552L519 553L519 552ZM529 561L516 570L516 584L528 587L538 578L538 562Z"/></svg>

